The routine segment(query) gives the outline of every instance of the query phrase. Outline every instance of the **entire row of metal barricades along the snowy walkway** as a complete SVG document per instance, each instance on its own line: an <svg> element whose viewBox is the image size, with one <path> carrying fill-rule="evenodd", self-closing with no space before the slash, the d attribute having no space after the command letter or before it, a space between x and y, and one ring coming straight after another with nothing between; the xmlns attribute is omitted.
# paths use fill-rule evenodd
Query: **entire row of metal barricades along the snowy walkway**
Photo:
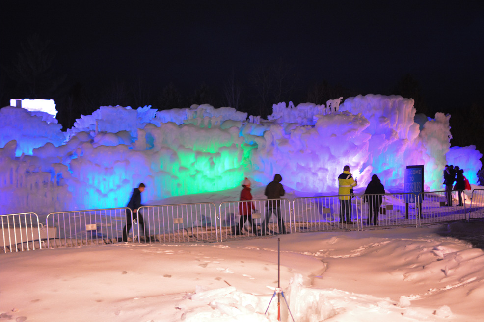
<svg viewBox="0 0 484 322"><path fill-rule="evenodd" d="M484 218L484 189L472 191L469 211L465 195L459 200L459 192L462 193L423 192L417 198L412 193L395 193L361 198L304 197L292 202L288 199L228 201L220 204L218 214L212 202L143 206L137 214L129 208L55 212L47 215L45 227L35 213L1 215L0 252L44 248L44 240L47 248L120 242L127 219L134 223L131 240L193 242ZM347 198L340 200L341 197Z"/></svg>

